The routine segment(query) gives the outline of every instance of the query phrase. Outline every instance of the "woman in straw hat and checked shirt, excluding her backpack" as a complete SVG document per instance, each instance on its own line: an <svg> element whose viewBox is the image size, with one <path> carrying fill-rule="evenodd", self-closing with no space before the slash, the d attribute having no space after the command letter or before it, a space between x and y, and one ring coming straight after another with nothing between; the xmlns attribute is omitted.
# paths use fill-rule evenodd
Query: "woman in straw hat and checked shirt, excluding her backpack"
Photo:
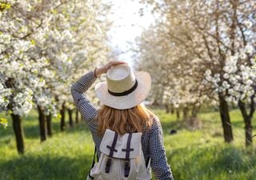
<svg viewBox="0 0 256 180"><path fill-rule="evenodd" d="M106 74L107 81L98 83L95 91L103 106L96 110L84 93L102 74ZM142 151L154 177L172 180L163 145L162 126L158 118L142 105L150 87L150 74L133 72L126 62L110 61L78 79L71 87L71 94L90 128L98 156L101 155L99 147L106 129L118 134L142 132Z"/></svg>

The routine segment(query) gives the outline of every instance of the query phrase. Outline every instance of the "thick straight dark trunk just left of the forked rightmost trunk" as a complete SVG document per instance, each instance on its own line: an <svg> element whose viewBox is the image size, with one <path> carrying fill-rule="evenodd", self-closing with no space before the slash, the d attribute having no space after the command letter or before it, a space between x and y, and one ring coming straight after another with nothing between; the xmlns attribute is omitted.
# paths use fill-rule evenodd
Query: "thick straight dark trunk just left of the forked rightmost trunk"
<svg viewBox="0 0 256 180"><path fill-rule="evenodd" d="M230 122L229 107L225 98L222 96L222 94L218 94L218 99L219 99L219 112L222 118L224 140L225 142L232 142L234 138L233 138L232 126Z"/></svg>

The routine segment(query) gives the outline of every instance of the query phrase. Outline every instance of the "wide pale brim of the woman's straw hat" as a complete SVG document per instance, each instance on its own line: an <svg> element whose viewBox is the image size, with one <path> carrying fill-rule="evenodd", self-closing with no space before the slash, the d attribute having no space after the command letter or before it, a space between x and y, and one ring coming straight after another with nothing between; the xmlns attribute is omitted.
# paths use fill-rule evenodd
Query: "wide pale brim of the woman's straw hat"
<svg viewBox="0 0 256 180"><path fill-rule="evenodd" d="M151 89L150 74L144 71L135 71L134 75L138 81L137 88L125 96L114 96L109 94L106 82L99 82L95 86L95 92L100 102L118 110L130 109L142 103Z"/></svg>

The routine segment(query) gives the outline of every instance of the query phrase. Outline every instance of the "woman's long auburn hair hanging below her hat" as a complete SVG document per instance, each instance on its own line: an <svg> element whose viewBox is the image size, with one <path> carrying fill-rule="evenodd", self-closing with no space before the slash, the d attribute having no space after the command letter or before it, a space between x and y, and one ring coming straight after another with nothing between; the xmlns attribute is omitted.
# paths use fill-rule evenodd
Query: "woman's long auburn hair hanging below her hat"
<svg viewBox="0 0 256 180"><path fill-rule="evenodd" d="M146 108L138 105L126 110L117 110L103 105L98 111L98 134L103 135L106 129L118 134L144 132L152 126L155 115Z"/></svg>

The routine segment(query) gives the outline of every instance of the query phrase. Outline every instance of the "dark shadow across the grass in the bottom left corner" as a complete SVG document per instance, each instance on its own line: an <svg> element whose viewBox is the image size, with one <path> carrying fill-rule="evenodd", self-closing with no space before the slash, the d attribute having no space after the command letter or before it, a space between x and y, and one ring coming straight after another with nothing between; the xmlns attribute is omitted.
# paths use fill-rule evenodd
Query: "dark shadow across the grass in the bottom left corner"
<svg viewBox="0 0 256 180"><path fill-rule="evenodd" d="M1 180L85 180L91 157L25 155L0 164Z"/></svg>

